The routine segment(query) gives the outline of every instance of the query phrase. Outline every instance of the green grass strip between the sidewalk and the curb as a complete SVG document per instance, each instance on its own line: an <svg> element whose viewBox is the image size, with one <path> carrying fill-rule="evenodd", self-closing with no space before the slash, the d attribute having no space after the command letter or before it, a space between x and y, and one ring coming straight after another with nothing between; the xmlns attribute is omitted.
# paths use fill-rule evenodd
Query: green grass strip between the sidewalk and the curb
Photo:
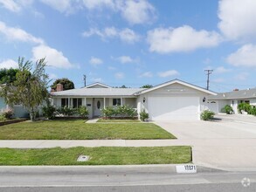
<svg viewBox="0 0 256 192"><path fill-rule="evenodd" d="M44 149L0 148L0 165L135 165L176 164L191 161L191 148L178 147L72 147ZM80 154L89 155L78 162Z"/></svg>

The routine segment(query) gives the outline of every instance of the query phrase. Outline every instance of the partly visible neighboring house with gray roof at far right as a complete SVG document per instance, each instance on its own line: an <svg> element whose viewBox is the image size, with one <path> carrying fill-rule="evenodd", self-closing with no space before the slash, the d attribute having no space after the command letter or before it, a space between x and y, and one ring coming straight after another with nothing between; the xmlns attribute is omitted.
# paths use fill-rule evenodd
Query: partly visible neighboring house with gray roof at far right
<svg viewBox="0 0 256 192"><path fill-rule="evenodd" d="M215 96L210 96L207 103L209 109L214 113L221 113L225 105L232 106L234 113L239 113L239 103L248 103L256 106L256 88L218 93Z"/></svg>

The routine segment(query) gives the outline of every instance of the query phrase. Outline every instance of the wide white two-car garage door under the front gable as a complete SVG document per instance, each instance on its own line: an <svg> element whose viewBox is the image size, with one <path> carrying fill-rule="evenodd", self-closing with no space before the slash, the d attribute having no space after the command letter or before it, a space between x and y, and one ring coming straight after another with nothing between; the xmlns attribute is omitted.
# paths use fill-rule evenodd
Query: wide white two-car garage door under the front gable
<svg viewBox="0 0 256 192"><path fill-rule="evenodd" d="M198 97L149 97L150 120L199 120Z"/></svg>

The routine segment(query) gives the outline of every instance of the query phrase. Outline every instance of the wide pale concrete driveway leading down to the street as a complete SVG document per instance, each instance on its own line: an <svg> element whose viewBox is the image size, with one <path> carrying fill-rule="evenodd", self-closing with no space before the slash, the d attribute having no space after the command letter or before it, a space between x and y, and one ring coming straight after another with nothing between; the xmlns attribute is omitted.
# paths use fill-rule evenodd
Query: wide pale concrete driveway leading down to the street
<svg viewBox="0 0 256 192"><path fill-rule="evenodd" d="M197 165L256 170L256 123L251 120L156 122L193 150Z"/></svg>

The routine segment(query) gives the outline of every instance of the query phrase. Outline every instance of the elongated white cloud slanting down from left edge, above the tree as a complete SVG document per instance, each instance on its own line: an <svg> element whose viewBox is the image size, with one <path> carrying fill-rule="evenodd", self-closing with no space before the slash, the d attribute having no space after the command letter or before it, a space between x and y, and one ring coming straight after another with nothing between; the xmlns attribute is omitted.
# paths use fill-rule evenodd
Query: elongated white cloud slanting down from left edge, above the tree
<svg viewBox="0 0 256 192"><path fill-rule="evenodd" d="M8 38L11 41L22 41L22 42L30 42L35 44L44 44L44 40L42 38L35 38L30 33L27 33L26 31L15 28L15 27L9 27L3 22L0 21L0 33L3 33L6 38Z"/></svg>

